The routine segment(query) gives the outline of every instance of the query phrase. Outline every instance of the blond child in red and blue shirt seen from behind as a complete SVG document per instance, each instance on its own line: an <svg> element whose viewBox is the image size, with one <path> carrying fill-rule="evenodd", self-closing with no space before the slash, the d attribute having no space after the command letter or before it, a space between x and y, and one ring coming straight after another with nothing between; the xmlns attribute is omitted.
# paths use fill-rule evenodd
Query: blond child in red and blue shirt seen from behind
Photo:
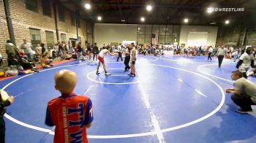
<svg viewBox="0 0 256 143"><path fill-rule="evenodd" d="M87 143L86 128L90 128L94 120L91 99L73 93L77 82L75 72L63 69L54 80L61 96L48 102L45 117L46 125L56 125L54 142Z"/></svg>

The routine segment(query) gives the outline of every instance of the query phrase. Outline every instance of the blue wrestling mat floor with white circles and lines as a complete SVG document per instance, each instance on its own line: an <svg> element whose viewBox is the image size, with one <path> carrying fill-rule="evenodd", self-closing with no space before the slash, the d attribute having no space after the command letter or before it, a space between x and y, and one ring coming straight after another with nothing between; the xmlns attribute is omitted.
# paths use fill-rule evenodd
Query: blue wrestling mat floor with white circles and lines
<svg viewBox="0 0 256 143"><path fill-rule="evenodd" d="M60 69L78 74L75 93L91 98L94 122L89 142L255 142L256 108L251 115L236 112L230 94L230 72L236 64L217 58L139 55L136 77L124 63L106 57L111 76L95 74L87 61L71 61L37 74L0 82L15 96L7 109L7 143L53 142L54 128L44 124L48 101L60 95L53 76ZM100 67L102 70L102 66ZM256 78L249 77L256 83Z"/></svg>

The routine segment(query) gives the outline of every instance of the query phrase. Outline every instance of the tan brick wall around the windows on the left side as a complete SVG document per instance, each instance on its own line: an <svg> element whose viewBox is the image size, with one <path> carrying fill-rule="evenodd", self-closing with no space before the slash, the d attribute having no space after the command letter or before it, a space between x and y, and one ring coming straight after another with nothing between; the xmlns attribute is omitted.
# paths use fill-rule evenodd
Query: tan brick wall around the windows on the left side
<svg viewBox="0 0 256 143"><path fill-rule="evenodd" d="M56 26L53 13L53 4L51 7L51 17L45 16L42 13L42 0L37 0L38 12L26 9L25 0L10 0L10 15L12 17L12 26L15 35L16 45L19 47L23 39L27 39L31 42L31 36L29 33L29 28L36 28L40 30L42 43L46 45L45 31L53 31L54 42L57 42L56 37ZM57 15L58 5L56 7ZM7 22L4 14L4 4L0 1L0 52L7 58L4 49L4 43L9 39L9 34L7 30ZM68 9L64 10L65 22L58 21L59 25L59 39L61 40L61 34L66 34L67 40L69 38L77 38L77 32L75 26L71 25L70 11ZM59 18L57 18L59 20ZM80 19L80 28L78 28L78 36L81 36L82 46L85 45L86 37L86 21Z"/></svg>

